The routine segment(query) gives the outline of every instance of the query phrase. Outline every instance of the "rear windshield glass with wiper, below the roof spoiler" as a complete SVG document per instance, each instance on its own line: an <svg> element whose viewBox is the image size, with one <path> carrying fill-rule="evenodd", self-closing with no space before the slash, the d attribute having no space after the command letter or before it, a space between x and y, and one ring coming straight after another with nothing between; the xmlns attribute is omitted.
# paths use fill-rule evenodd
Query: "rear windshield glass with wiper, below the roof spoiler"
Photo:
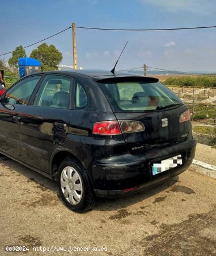
<svg viewBox="0 0 216 256"><path fill-rule="evenodd" d="M183 104L170 89L158 81L131 80L109 79L98 82L114 112L149 112Z"/></svg>

